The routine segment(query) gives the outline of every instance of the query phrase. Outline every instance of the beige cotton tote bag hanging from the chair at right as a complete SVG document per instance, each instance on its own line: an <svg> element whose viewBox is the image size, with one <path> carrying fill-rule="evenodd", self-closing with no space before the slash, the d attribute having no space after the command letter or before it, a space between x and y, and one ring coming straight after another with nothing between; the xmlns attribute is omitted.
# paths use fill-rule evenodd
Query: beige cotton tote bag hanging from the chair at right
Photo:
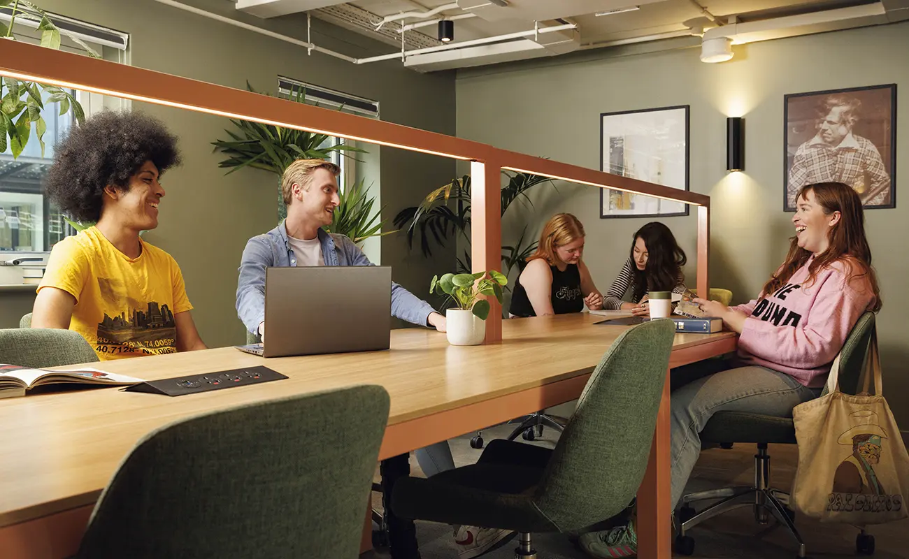
<svg viewBox="0 0 909 559"><path fill-rule="evenodd" d="M820 519L863 526L909 516L909 455L881 394L877 335L864 364L857 395L839 391L840 358L827 379L827 394L795 406L798 468L794 508ZM874 395L868 394L874 378Z"/></svg>

